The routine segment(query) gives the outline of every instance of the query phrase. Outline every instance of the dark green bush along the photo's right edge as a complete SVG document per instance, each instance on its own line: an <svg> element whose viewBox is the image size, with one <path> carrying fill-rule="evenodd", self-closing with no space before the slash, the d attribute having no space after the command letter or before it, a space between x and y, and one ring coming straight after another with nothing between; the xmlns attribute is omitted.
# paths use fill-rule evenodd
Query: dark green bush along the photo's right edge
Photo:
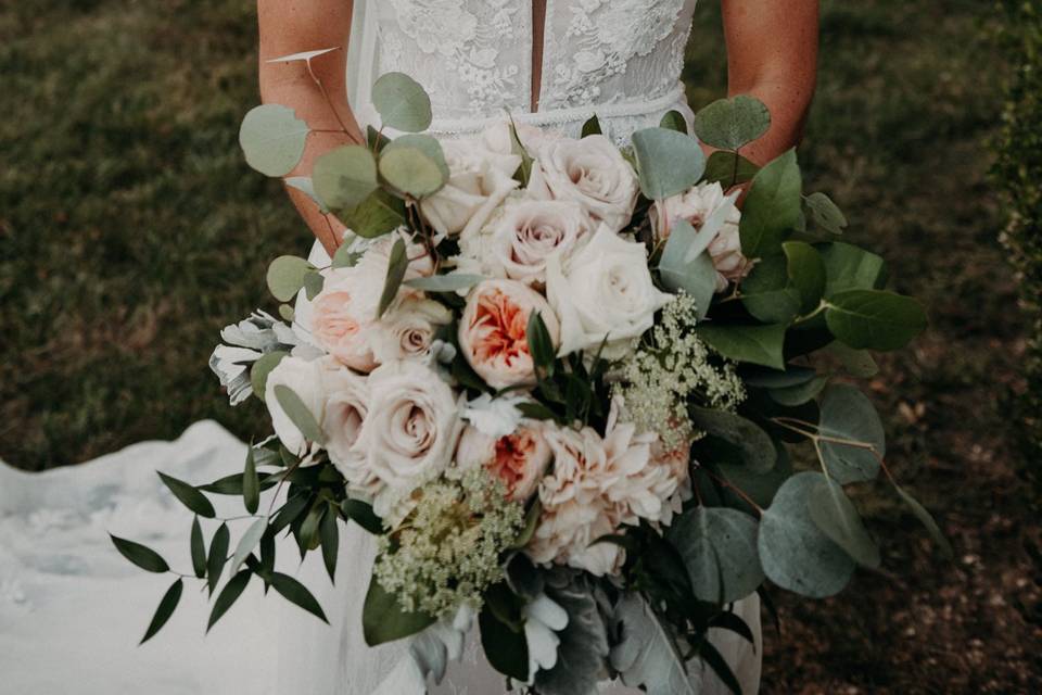
<svg viewBox="0 0 1042 695"><path fill-rule="evenodd" d="M1012 63L993 175L1008 206L1003 243L1032 325L1019 408L1032 455L1042 450L1042 2L1002 0L1001 43ZM1042 489L1042 476L1037 476Z"/></svg>

